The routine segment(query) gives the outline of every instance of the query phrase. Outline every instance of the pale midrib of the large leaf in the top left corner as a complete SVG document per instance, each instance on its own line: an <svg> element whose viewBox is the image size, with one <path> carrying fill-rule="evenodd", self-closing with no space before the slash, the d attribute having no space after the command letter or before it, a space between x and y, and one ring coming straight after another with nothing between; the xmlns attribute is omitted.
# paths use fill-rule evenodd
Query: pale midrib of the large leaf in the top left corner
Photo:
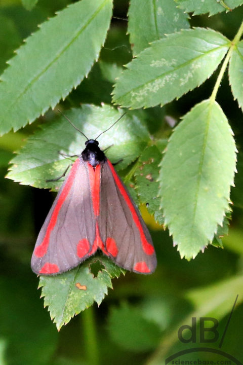
<svg viewBox="0 0 243 365"><path fill-rule="evenodd" d="M97 16L97 14L102 10L102 8L105 6L105 4L108 1L109 0L104 0L103 4L100 5L100 7L93 13L93 15L90 17L90 19L88 20L88 22L85 25L83 25L79 30L76 31L76 35L73 36L72 40L59 51L59 53L53 58L53 60L50 61L48 63L48 65L39 72L39 74L37 74L35 77L32 78L32 80L30 80L30 82L28 82L28 85L18 95L18 97L10 104L10 106L8 107L8 109L7 109L7 111L5 113L8 113L9 112L9 110L12 108L12 106L14 104L16 104L17 101L27 92L27 90L32 87L32 85L36 82L36 80L38 80L39 78L41 78L41 76L43 74L45 74L45 72L52 66L52 64L55 63L56 60L72 45L72 43L78 38L78 36L84 31L84 29L86 29L88 27L88 25Z"/></svg>

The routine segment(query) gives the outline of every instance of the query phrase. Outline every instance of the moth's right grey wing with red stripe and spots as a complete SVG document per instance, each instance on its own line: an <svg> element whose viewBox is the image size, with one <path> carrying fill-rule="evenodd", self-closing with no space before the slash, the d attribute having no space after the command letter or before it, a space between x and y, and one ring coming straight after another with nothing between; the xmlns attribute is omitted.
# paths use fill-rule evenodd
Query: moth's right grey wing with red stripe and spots
<svg viewBox="0 0 243 365"><path fill-rule="evenodd" d="M98 226L103 251L118 266L143 274L155 270L157 261L149 231L108 160L101 170Z"/></svg>

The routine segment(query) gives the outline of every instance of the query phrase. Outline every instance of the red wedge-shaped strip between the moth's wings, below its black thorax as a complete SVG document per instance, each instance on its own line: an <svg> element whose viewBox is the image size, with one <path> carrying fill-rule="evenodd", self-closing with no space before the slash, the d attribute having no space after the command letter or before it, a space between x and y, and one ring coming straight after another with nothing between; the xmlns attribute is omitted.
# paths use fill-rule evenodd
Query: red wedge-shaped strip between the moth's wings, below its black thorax
<svg viewBox="0 0 243 365"><path fill-rule="evenodd" d="M100 164L94 167L88 163L90 188L94 214L100 214Z"/></svg>

